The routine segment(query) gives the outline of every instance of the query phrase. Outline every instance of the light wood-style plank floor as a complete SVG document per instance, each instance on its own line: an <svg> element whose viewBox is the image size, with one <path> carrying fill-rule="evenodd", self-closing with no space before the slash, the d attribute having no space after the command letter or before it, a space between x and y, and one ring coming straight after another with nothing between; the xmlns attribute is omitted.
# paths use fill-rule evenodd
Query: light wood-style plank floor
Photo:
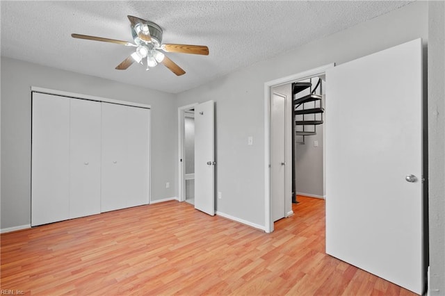
<svg viewBox="0 0 445 296"><path fill-rule="evenodd" d="M1 235L1 289L26 295L413 295L325 254L325 202L264 233L165 202Z"/></svg>

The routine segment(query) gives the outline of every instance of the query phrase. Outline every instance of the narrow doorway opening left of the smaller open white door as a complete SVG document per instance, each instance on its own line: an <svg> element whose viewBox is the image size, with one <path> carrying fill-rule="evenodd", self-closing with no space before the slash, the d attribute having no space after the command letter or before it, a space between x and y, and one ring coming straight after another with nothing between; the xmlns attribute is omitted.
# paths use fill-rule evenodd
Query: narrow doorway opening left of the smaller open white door
<svg viewBox="0 0 445 296"><path fill-rule="evenodd" d="M195 204L195 106L178 108L179 202Z"/></svg>

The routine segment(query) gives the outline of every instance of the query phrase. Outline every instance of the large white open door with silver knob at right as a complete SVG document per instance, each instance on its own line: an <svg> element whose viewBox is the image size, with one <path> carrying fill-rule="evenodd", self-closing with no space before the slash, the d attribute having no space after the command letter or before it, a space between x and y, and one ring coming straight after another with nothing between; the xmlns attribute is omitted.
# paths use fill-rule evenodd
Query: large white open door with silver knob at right
<svg viewBox="0 0 445 296"><path fill-rule="evenodd" d="M414 40L326 72L326 252L418 294L421 49Z"/></svg>

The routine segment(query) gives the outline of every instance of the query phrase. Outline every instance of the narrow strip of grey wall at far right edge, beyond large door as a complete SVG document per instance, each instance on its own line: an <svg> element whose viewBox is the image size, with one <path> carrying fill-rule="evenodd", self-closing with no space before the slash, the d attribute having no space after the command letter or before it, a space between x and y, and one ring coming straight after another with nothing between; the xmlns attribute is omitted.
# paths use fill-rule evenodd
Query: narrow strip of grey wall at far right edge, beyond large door
<svg viewBox="0 0 445 296"><path fill-rule="evenodd" d="M445 295L445 3L429 3L429 295Z"/></svg>

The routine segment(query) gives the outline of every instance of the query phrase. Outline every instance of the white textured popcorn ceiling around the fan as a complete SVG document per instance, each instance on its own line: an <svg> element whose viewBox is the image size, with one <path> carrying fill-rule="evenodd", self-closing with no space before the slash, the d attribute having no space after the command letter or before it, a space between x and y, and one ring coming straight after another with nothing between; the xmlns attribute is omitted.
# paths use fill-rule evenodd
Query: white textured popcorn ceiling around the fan
<svg viewBox="0 0 445 296"><path fill-rule="evenodd" d="M1 56L177 93L412 1L1 1ZM163 65L115 69L133 51L71 33L132 42L127 15L163 28L163 43L209 47Z"/></svg>

